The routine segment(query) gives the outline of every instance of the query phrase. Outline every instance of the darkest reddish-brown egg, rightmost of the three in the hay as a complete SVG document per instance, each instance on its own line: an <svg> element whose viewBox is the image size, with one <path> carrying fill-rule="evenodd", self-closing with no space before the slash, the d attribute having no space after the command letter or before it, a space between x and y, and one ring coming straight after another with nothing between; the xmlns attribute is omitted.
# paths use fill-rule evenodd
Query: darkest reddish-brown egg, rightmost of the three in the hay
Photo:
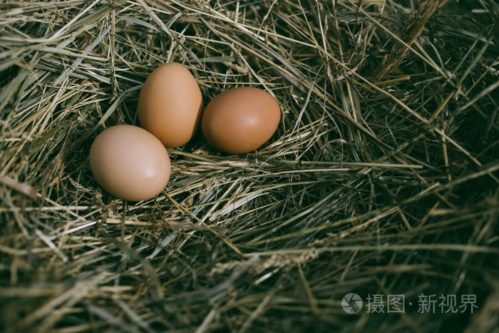
<svg viewBox="0 0 499 333"><path fill-rule="evenodd" d="M201 129L210 145L225 153L242 154L272 137L281 111L272 95L259 88L232 88L208 103Z"/></svg>

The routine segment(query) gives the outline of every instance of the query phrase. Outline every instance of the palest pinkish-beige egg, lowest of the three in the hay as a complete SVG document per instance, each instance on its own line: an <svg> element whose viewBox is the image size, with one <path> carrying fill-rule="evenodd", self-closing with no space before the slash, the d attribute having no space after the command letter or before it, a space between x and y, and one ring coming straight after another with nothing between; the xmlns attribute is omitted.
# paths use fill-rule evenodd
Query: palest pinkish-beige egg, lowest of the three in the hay
<svg viewBox="0 0 499 333"><path fill-rule="evenodd" d="M116 125L97 135L90 148L90 167L104 190L130 201L154 198L170 179L165 146L132 125Z"/></svg>

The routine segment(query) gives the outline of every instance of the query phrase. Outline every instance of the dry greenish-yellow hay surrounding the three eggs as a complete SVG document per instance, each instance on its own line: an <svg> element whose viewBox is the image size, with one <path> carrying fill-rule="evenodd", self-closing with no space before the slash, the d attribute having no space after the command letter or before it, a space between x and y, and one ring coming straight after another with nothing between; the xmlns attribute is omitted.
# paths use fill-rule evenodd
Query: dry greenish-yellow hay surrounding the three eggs
<svg viewBox="0 0 499 333"><path fill-rule="evenodd" d="M3 332L498 332L495 1L0 9ZM247 155L197 135L169 150L164 193L125 203L88 150L138 125L140 86L168 61L205 103L269 91L282 121ZM368 312L394 294L403 313Z"/></svg>

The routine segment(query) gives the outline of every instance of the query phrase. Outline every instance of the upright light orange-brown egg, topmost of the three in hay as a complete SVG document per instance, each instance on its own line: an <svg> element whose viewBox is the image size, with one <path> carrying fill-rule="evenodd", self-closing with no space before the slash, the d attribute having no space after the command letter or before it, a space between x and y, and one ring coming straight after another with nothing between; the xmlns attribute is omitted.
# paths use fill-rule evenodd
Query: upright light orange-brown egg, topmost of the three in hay
<svg viewBox="0 0 499 333"><path fill-rule="evenodd" d="M190 71L167 63L145 80L138 97L138 119L163 145L175 148L195 135L202 106L200 88Z"/></svg>

